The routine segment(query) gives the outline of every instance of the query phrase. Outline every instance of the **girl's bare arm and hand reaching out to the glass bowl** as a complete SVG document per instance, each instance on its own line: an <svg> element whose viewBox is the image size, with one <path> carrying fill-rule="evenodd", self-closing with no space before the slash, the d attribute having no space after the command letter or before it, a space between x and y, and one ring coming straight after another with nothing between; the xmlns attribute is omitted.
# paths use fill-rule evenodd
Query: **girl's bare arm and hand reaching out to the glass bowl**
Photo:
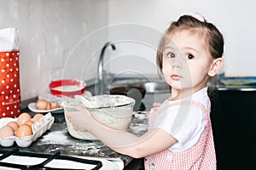
<svg viewBox="0 0 256 170"><path fill-rule="evenodd" d="M161 150L166 150L177 143L172 135L166 131L155 128L140 137L126 131L108 127L97 122L89 111L83 107L76 107L78 111L67 112L67 117L73 127L79 131L88 130L111 149L131 157L139 158L149 156Z"/></svg>

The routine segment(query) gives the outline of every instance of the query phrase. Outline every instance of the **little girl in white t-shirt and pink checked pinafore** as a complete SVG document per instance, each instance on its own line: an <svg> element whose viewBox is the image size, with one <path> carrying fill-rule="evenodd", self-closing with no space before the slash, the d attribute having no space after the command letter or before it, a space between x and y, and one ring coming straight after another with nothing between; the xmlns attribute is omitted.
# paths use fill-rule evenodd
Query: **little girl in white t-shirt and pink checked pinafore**
<svg viewBox="0 0 256 170"><path fill-rule="evenodd" d="M145 169L216 169L207 81L223 65L224 38L201 15L172 22L160 42L157 65L172 96L149 114L140 137L107 127L82 106L67 113L73 127L88 130L113 150L145 157Z"/></svg>

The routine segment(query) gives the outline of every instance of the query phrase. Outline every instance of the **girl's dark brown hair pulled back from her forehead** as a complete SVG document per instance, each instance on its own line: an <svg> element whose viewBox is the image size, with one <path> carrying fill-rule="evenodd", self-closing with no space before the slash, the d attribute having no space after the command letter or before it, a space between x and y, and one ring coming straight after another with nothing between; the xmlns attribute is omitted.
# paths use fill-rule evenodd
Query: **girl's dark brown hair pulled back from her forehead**
<svg viewBox="0 0 256 170"><path fill-rule="evenodd" d="M166 31L164 37L160 41L160 47L157 51L156 63L160 69L162 66L163 48L166 42L170 42L170 35L176 33L177 31L190 31L191 34L197 34L205 39L207 44L207 50L212 55L213 59L222 57L224 53L224 38L222 34L218 31L216 26L212 23L204 20L203 22L195 19L191 15L183 15L177 21L172 22L171 26Z"/></svg>

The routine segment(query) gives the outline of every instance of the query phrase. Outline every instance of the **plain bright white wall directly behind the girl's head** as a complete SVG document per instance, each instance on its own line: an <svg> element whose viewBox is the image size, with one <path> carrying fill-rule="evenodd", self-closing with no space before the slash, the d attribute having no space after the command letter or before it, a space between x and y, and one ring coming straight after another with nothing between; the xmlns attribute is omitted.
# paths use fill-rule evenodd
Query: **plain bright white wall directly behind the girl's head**
<svg viewBox="0 0 256 170"><path fill-rule="evenodd" d="M224 34L225 76L256 76L256 58L253 53L256 46L255 7L256 3L253 0L109 0L109 26L114 26L115 29L109 31L108 39L119 42L119 51L113 53L113 59L110 60L116 63L123 60L125 68L141 74L156 74L155 45L149 47L148 42L152 42L153 39L158 42L159 35L156 31L165 31L170 22L177 20L180 15L199 13ZM135 25L133 27L140 27L141 31L116 31L127 23ZM148 34L148 31L154 31L154 34ZM125 32L132 35L130 41L129 37L120 36ZM137 37L151 39L138 40ZM140 60L137 61L135 58ZM109 71L120 72L123 69L116 65L109 63Z"/></svg>

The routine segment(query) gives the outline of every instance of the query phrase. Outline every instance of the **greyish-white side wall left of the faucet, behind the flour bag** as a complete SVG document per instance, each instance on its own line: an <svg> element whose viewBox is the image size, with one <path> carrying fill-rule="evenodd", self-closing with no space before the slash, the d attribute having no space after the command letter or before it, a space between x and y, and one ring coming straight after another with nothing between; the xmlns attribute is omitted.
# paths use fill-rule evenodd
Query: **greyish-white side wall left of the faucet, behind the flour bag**
<svg viewBox="0 0 256 170"><path fill-rule="evenodd" d="M20 38L21 100L49 91L51 80L96 77L108 35L96 30L107 25L105 0L0 0L0 28L16 27Z"/></svg>

